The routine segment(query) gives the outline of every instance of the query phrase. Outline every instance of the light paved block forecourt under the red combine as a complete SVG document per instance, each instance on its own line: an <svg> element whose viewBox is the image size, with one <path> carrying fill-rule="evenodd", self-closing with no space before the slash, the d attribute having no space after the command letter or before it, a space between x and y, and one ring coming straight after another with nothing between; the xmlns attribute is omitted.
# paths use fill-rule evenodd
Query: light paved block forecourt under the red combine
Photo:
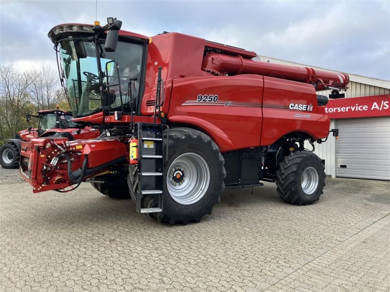
<svg viewBox="0 0 390 292"><path fill-rule="evenodd" d="M389 182L326 184L309 206L272 183L225 189L186 226L88 183L68 194L3 184L0 291L389 291Z"/></svg>

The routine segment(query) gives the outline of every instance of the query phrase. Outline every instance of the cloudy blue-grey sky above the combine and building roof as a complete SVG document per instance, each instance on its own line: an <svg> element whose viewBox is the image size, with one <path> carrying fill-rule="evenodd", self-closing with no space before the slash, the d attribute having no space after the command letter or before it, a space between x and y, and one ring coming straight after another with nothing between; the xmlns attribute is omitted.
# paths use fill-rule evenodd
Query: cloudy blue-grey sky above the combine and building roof
<svg viewBox="0 0 390 292"><path fill-rule="evenodd" d="M100 1L97 19L148 37L203 37L258 55L390 79L390 1ZM0 62L57 70L49 30L93 23L96 0L0 0Z"/></svg>

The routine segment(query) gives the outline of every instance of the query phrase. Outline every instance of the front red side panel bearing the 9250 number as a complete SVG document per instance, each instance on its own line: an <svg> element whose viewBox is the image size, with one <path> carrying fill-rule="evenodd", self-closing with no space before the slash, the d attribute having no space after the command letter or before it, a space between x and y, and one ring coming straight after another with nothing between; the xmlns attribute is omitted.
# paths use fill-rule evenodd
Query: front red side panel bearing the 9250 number
<svg viewBox="0 0 390 292"><path fill-rule="evenodd" d="M208 133L221 152L258 146L263 78L256 75L185 78L174 81L168 120ZM198 95L216 95L197 101Z"/></svg>

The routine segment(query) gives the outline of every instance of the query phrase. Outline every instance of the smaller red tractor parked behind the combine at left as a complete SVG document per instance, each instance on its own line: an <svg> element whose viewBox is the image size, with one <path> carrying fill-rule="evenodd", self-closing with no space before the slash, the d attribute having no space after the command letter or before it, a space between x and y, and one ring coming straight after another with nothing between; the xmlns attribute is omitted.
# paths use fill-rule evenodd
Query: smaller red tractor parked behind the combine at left
<svg viewBox="0 0 390 292"><path fill-rule="evenodd" d="M31 117L39 118L38 128L27 128L18 132L14 139L7 139L0 148L0 164L3 168L19 168L21 141L30 141L37 137L68 137L69 140L90 139L100 135L97 129L78 128L72 122L72 112L64 110L39 110L38 115L27 113L27 122Z"/></svg>

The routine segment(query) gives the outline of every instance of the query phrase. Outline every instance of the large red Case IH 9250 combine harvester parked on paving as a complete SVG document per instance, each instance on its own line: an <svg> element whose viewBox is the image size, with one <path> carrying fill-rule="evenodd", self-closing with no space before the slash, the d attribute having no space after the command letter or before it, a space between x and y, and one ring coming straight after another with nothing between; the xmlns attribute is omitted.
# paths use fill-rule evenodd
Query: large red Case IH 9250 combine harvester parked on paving
<svg viewBox="0 0 390 292"><path fill-rule="evenodd" d="M49 32L74 121L101 126L93 140L22 143L20 173L33 192L66 192L91 182L132 198L137 210L170 224L211 214L224 187L276 182L293 204L317 201L331 89L349 77L253 60L256 53L179 33L144 37L62 24ZM337 135L337 130L332 130ZM311 145L311 149L305 148Z"/></svg>

